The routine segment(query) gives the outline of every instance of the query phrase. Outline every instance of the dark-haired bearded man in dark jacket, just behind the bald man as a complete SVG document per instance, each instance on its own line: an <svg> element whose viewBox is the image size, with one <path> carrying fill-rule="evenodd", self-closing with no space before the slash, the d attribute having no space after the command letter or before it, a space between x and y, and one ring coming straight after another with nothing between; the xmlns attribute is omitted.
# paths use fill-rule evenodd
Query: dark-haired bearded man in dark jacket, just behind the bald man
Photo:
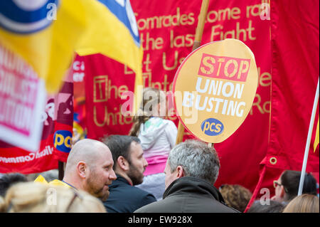
<svg viewBox="0 0 320 227"><path fill-rule="evenodd" d="M103 142L112 152L117 180L110 185L110 197L104 202L108 213L132 213L156 201L149 192L134 185L141 184L148 166L137 137L112 135Z"/></svg>

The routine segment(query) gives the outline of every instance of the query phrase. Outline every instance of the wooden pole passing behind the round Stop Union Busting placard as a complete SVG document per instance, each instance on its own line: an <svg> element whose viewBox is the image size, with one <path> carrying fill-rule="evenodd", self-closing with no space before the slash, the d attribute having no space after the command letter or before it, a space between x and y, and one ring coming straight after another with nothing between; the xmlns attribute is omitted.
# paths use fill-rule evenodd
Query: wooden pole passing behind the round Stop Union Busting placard
<svg viewBox="0 0 320 227"><path fill-rule="evenodd" d="M201 4L200 14L198 16L198 25L196 28L196 36L194 38L192 51L196 50L196 48L201 46L201 39L202 39L202 35L203 35L204 24L206 21L208 6L209 6L209 0L203 0L202 4ZM181 124L181 121L179 121L178 134L176 136L176 144L179 144L182 142L183 134L184 134L184 127Z"/></svg>

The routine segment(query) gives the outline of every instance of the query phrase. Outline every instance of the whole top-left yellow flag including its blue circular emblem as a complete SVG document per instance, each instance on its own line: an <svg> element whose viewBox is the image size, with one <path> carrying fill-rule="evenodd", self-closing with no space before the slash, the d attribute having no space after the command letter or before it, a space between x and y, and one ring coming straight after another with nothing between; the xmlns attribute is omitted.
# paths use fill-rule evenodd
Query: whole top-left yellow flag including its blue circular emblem
<svg viewBox="0 0 320 227"><path fill-rule="evenodd" d="M0 1L0 43L26 60L55 93L85 31L84 11L78 0Z"/></svg>

